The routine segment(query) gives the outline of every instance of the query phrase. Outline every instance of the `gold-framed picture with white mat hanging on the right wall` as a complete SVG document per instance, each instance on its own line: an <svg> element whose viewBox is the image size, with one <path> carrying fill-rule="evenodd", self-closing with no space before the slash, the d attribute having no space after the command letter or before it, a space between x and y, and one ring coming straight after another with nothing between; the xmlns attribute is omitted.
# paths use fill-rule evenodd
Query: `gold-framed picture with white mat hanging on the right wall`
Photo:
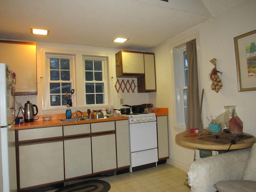
<svg viewBox="0 0 256 192"><path fill-rule="evenodd" d="M256 90L256 30L234 37L238 91Z"/></svg>

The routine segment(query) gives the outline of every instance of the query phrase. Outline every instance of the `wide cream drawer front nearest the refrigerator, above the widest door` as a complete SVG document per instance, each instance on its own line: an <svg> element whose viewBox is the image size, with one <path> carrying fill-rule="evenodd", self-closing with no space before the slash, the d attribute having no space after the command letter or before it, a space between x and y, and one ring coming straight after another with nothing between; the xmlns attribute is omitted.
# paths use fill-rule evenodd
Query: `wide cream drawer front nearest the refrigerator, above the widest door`
<svg viewBox="0 0 256 192"><path fill-rule="evenodd" d="M19 130L19 141L62 136L62 126Z"/></svg>

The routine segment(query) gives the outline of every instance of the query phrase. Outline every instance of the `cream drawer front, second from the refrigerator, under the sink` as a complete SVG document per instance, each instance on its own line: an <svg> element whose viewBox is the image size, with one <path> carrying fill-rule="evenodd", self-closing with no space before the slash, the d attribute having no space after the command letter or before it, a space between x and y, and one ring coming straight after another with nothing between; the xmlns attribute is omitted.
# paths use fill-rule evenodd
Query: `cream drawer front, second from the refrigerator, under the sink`
<svg viewBox="0 0 256 192"><path fill-rule="evenodd" d="M64 136L90 133L90 124L63 126Z"/></svg>

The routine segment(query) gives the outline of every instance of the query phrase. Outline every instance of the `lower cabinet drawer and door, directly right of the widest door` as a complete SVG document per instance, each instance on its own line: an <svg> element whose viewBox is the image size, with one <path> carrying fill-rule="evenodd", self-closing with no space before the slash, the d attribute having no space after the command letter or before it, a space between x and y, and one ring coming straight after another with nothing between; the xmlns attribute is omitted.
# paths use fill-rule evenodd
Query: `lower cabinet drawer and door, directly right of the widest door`
<svg viewBox="0 0 256 192"><path fill-rule="evenodd" d="M90 124L63 126L65 179L92 174Z"/></svg>

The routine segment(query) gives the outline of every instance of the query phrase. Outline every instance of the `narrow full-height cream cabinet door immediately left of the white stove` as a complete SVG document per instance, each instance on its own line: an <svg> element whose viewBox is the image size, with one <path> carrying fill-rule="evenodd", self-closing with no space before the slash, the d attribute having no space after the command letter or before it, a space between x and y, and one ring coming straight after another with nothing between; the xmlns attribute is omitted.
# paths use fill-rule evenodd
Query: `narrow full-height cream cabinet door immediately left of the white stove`
<svg viewBox="0 0 256 192"><path fill-rule="evenodd" d="M116 121L117 167L130 166L128 120Z"/></svg>

